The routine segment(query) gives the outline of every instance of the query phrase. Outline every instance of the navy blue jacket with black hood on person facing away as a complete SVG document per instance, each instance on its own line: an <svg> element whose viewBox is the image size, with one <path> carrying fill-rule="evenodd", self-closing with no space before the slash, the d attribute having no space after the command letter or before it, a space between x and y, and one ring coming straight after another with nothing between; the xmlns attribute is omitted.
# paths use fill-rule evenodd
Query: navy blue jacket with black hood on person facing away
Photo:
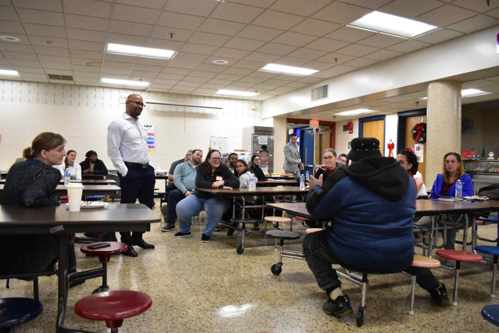
<svg viewBox="0 0 499 333"><path fill-rule="evenodd" d="M341 264L401 272L414 257L415 192L410 175L393 157L370 157L339 168L322 189L315 186L307 210L333 220L328 242Z"/></svg>

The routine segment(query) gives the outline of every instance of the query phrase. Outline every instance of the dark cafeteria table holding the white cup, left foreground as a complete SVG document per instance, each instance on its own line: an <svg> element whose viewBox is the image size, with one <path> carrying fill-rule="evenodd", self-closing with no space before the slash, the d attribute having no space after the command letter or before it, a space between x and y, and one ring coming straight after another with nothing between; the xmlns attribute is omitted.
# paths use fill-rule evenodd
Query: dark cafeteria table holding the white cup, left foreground
<svg viewBox="0 0 499 333"><path fill-rule="evenodd" d="M79 333L64 327L68 297L68 235L86 232L150 231L151 223L160 222L143 204L114 204L101 209L69 212L65 206L26 208L0 205L0 235L56 234L58 244L58 295L56 332ZM71 274L71 279L85 272Z"/></svg>

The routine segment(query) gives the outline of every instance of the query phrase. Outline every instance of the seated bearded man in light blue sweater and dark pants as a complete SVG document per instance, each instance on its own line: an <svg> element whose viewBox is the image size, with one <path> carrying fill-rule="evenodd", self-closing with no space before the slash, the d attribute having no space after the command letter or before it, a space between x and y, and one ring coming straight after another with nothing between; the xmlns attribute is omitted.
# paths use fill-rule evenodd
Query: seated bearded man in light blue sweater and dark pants
<svg viewBox="0 0 499 333"><path fill-rule="evenodd" d="M166 209L168 217L166 225L161 228L161 231L168 232L175 230L175 220L177 219L177 204L184 198L191 195L191 192L196 188L196 170L195 168L203 161L203 151L194 149L191 158L184 163L180 163L175 167L173 172L173 182L177 189L168 194Z"/></svg>

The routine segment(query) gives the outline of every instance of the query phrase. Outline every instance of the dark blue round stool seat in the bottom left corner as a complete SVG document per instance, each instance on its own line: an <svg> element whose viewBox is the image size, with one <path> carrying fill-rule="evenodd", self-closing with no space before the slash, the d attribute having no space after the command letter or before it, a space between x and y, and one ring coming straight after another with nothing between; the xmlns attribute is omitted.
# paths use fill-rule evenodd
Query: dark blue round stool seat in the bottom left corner
<svg viewBox="0 0 499 333"><path fill-rule="evenodd" d="M43 307L37 300L20 297L0 299L0 331L9 332L10 328L35 319L42 311Z"/></svg>

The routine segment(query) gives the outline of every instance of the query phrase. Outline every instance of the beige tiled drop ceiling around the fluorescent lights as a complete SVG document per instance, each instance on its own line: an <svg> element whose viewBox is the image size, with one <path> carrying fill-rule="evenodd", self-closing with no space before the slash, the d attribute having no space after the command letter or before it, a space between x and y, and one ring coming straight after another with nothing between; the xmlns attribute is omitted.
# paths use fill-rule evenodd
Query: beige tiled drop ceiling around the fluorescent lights
<svg viewBox="0 0 499 333"><path fill-rule="evenodd" d="M103 85L102 77L142 79L152 82L151 91L218 96L225 88L256 91L250 99L264 100L499 23L499 1L487 6L484 0L137 3L0 0L0 35L21 39L0 42L0 68L15 69L27 81L61 82L49 73L94 86ZM345 26L375 9L442 28L404 39ZM179 53L173 60L105 54L107 42ZM320 71L307 77L257 71L270 62Z"/></svg>

